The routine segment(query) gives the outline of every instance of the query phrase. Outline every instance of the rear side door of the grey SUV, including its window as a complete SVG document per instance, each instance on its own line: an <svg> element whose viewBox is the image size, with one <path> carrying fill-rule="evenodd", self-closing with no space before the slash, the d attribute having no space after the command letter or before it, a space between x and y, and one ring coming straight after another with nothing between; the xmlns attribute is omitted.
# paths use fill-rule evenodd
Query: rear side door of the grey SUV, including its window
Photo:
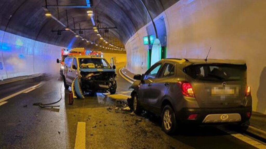
<svg viewBox="0 0 266 149"><path fill-rule="evenodd" d="M149 86L151 94L147 98L147 104L150 105L150 111L154 113L160 113L161 100L167 95L170 83L175 76L174 65L171 62L164 63L159 75L153 79L153 82Z"/></svg>

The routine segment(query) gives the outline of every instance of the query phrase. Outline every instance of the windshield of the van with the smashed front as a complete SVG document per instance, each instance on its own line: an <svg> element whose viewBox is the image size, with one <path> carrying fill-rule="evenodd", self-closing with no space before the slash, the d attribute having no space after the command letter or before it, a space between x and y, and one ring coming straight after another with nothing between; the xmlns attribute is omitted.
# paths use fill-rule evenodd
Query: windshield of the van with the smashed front
<svg viewBox="0 0 266 149"><path fill-rule="evenodd" d="M111 68L105 59L79 58L80 68Z"/></svg>

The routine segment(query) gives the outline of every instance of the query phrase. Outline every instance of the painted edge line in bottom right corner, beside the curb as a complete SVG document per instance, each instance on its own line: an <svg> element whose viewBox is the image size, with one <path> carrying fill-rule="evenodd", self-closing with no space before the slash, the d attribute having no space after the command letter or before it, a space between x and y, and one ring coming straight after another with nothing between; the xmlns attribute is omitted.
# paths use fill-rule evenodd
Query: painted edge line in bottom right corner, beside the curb
<svg viewBox="0 0 266 149"><path fill-rule="evenodd" d="M235 138L238 138L239 140L242 140L256 148L259 148L259 149L266 149L266 146L260 142L257 142L256 140L253 140L243 134L240 134L240 133L237 133L235 131L231 131L231 130L227 130L225 127L222 127L222 126L219 126L218 127L220 130L222 130L223 132L226 132L232 136L234 136Z"/></svg>

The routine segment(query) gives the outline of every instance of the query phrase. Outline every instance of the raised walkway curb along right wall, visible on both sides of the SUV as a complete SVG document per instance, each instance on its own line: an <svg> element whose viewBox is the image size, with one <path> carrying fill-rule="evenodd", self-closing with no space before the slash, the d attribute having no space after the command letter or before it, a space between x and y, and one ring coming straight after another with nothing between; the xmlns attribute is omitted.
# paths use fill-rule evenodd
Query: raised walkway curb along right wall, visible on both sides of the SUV
<svg viewBox="0 0 266 149"><path fill-rule="evenodd" d="M120 71L122 72L123 76L126 77L127 79L131 80L132 82L136 81L136 80L133 79L133 76L135 74L130 72L130 71L128 71L125 67L121 68L119 70L119 72ZM257 121L256 119L258 119L258 117L261 118L263 120L263 122L262 121ZM253 135L256 135L256 136L266 140L266 115L253 111L250 121L251 121L251 124L249 124L249 125L246 124L246 128L247 128L246 131L248 133L251 133ZM257 124L261 125L261 123L265 123L265 125L263 125L261 128L256 126Z"/></svg>

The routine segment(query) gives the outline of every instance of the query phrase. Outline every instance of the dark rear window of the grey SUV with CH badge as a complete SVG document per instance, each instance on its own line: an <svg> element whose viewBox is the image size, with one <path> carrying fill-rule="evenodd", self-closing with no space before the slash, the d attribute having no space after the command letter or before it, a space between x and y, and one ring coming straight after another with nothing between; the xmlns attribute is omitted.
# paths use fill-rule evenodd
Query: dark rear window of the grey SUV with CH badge
<svg viewBox="0 0 266 149"><path fill-rule="evenodd" d="M246 78L246 65L195 64L184 68L184 72L200 80L242 80Z"/></svg>

